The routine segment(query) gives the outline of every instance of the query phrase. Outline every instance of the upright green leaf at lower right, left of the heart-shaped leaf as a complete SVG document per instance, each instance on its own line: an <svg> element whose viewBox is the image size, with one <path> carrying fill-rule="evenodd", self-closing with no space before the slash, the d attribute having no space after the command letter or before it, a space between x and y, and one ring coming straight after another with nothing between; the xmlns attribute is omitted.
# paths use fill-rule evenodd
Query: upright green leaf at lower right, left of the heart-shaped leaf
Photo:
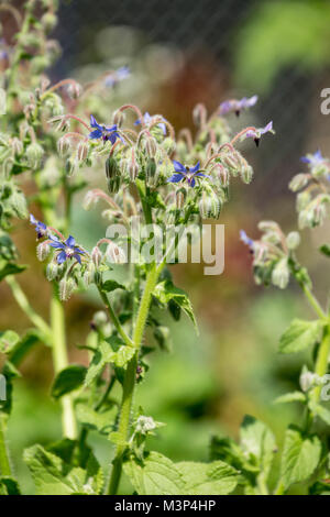
<svg viewBox="0 0 330 517"><path fill-rule="evenodd" d="M240 437L241 449L246 460L267 475L276 452L274 435L263 422L246 415L240 429Z"/></svg>

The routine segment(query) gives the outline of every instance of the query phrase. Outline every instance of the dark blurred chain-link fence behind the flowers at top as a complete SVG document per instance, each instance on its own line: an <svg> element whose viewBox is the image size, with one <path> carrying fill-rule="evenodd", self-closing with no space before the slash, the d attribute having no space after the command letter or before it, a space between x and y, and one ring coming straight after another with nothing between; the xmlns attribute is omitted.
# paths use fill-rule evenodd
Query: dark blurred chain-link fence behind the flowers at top
<svg viewBox="0 0 330 517"><path fill-rule="evenodd" d="M228 95L231 95L234 35L253 16L260 3L253 0L64 1L55 34L62 44L63 56L55 73L64 76L81 59L92 59L89 47L105 28L127 25L140 30L151 42L175 45L193 53L204 48L213 57L215 74L219 68L227 70ZM117 42L117 47L124 53L124 38ZM244 85L240 85L240 91L253 94L246 92ZM260 99L258 119L262 123L274 120L276 136L261 145L257 166L265 174L257 183L257 194L261 195L270 184L273 195L286 191L288 178L299 167L299 156L307 145L311 145L306 135L311 110L319 112L318 106L310 107L316 91L316 78L301 75L298 66L292 66L277 76L272 90ZM219 91L217 101L224 96L226 90ZM314 147L310 151L315 151Z"/></svg>

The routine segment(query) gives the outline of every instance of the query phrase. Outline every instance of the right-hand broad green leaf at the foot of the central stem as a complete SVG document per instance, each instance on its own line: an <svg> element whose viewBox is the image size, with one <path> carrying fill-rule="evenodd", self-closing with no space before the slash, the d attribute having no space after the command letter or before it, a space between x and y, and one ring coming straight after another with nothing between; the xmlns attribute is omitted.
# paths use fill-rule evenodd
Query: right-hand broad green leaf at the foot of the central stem
<svg viewBox="0 0 330 517"><path fill-rule="evenodd" d="M212 463L185 461L176 463L175 466L184 479L187 495L230 494L239 482L238 471L222 461Z"/></svg>

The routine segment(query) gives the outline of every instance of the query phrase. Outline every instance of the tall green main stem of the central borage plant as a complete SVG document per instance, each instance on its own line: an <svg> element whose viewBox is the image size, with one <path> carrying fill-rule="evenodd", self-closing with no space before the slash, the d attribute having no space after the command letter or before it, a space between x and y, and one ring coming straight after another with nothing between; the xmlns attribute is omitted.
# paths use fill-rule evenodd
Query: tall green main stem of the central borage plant
<svg viewBox="0 0 330 517"><path fill-rule="evenodd" d="M120 419L119 419L119 426L118 426L119 444L117 447L116 457L113 460L113 468L111 472L109 491L108 491L108 493L111 495L117 494L118 486L120 483L120 477L121 477L121 472L122 472L122 457L125 450L129 431L130 431L131 409L132 409L133 397L134 397L139 353L140 353L141 342L142 342L142 338L143 338L143 333L144 333L144 329L146 324L146 319L148 315L152 293L156 286L162 268L163 268L162 264L158 267L156 266L156 264L151 265L151 270L146 276L144 292L141 298L141 302L140 302L140 307L139 307L139 311L136 316L134 333L133 333L133 343L135 348L135 354L128 365L128 370L127 370L125 377L124 377Z"/></svg>

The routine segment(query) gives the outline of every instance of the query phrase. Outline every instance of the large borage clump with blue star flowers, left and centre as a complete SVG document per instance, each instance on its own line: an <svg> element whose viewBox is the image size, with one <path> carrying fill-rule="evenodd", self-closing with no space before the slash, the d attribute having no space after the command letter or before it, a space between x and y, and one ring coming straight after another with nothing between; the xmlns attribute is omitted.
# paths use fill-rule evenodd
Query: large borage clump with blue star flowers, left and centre
<svg viewBox="0 0 330 517"><path fill-rule="evenodd" d="M40 7L43 13L36 18ZM219 218L231 177L251 182L252 168L237 144L245 138L258 144L264 133L273 131L272 123L232 136L222 116L239 114L256 97L222 103L209 118L199 105L194 110L195 139L189 130L176 139L163 116L143 114L135 106L107 114L107 98L130 75L127 67L109 70L85 88L74 79L51 85L44 70L58 55L58 44L47 38L56 23L56 7L54 0L29 0L22 19L12 6L1 4L19 31L14 45L3 41L1 53L7 112L0 134L0 278L33 324L24 336L6 330L0 338L6 358L1 378L7 384L0 406L1 493L20 493L6 439L7 421L20 364L36 343L52 349L52 396L61 403L63 425L61 441L24 452L37 494L116 494L122 471L139 494L231 493L244 483L241 465L234 461L174 464L146 449L147 436L162 424L134 407L134 392L139 383L147 382L145 356L153 346L144 341L146 326L160 348L167 346L169 330L158 321L160 308L175 320L184 311L196 324L189 298L173 284L169 271L184 238L187 241L186 228L191 223L200 228L202 218ZM88 168L94 174L106 172L108 190L91 188L85 197L86 208L103 204L102 216L109 223L107 235L92 250L70 234L73 202L86 188ZM30 193L28 198L24 191ZM52 283L50 322L15 279L26 268L18 263L19 252L10 238L18 218L35 230L37 257L46 262ZM169 240L157 240L169 227ZM118 264L124 268L122 283L112 274ZM86 338L88 367L69 365L64 302L90 286L107 312L95 315ZM121 399L113 395L116 385ZM88 446L90 429L113 443L109 480Z"/></svg>

